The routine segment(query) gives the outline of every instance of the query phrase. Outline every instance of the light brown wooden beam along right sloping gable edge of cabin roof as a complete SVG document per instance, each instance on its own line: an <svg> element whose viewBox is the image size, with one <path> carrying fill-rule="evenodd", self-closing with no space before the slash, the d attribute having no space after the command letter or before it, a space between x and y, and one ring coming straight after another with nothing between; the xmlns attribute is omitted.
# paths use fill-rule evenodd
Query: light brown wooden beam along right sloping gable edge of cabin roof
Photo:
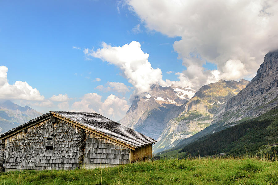
<svg viewBox="0 0 278 185"><path fill-rule="evenodd" d="M53 113L53 112L51 112L51 113ZM70 119L67 119L67 118L65 118L65 117L61 117L60 115L57 115L57 114L55 114L55 113L53 113L53 116L54 116L54 117L57 117L57 118L59 118L59 119L61 119L61 120L63 120L63 121L69 122L69 123L71 123L71 124L73 124L73 125L75 125L75 126L78 126L78 127L82 128L82 129L84 129L84 130L87 130L87 131L89 131L89 132L91 132L91 133L93 133L93 134L96 134L96 135L98 135L98 136L100 136L100 137L106 138L106 139L108 139L108 140L110 140L110 141L112 141L112 142L115 142L115 143L119 144L119 145L125 146L125 147L127 147L127 148L129 148L129 149L131 149L131 150L135 150L135 147L130 146L130 145L128 145L128 144L126 144L126 143L124 143L124 142L122 142L122 141L119 141L119 140L117 140L116 138L112 138L112 137L110 137L110 136L107 136L107 135L105 135L105 134L102 134L102 133L100 133L100 132L97 132L97 131L91 129L90 127L87 127L87 126L85 126L85 125L82 125L82 124L80 124L80 123L77 123L77 122L75 122L75 121L72 121L72 120L70 120Z"/></svg>

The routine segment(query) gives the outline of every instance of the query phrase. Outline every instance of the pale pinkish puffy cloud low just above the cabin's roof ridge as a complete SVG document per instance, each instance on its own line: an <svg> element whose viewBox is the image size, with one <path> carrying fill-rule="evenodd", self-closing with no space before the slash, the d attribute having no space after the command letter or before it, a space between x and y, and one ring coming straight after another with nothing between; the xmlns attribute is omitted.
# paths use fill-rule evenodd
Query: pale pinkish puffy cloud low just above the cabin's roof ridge
<svg viewBox="0 0 278 185"><path fill-rule="evenodd" d="M82 97L81 101L76 101L71 105L73 111L95 112L114 121L120 120L129 109L127 101L123 98L111 94L104 101L97 93L88 93Z"/></svg>

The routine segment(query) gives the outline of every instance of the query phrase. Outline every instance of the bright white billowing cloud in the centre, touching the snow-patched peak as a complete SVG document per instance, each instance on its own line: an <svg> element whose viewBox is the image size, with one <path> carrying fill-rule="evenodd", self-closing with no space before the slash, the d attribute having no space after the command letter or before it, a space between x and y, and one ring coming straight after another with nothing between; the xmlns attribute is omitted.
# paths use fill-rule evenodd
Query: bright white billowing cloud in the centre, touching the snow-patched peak
<svg viewBox="0 0 278 185"><path fill-rule="evenodd" d="M103 48L96 51L85 49L84 53L118 66L128 82L135 87L136 94L147 92L150 85L162 81L161 70L152 68L148 61L149 54L141 50L139 42L133 41L122 47L112 47L103 43Z"/></svg>

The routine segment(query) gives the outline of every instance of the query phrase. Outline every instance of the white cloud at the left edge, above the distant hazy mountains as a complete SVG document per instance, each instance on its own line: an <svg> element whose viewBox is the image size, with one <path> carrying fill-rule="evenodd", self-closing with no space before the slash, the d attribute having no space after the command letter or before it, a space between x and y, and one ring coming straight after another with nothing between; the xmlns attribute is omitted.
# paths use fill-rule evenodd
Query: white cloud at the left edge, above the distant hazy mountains
<svg viewBox="0 0 278 185"><path fill-rule="evenodd" d="M8 68L0 66L0 98L43 101L44 96L36 88L32 88L27 82L16 81L9 84L7 79Z"/></svg>

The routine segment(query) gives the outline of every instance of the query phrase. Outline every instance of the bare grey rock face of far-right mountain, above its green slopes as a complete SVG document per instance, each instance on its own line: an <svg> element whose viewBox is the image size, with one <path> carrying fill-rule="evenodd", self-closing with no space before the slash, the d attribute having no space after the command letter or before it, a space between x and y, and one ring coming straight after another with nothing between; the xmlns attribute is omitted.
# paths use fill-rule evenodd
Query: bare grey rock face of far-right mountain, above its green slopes
<svg viewBox="0 0 278 185"><path fill-rule="evenodd" d="M257 117L278 105L278 50L269 52L253 80L227 101L225 112L214 122Z"/></svg>

